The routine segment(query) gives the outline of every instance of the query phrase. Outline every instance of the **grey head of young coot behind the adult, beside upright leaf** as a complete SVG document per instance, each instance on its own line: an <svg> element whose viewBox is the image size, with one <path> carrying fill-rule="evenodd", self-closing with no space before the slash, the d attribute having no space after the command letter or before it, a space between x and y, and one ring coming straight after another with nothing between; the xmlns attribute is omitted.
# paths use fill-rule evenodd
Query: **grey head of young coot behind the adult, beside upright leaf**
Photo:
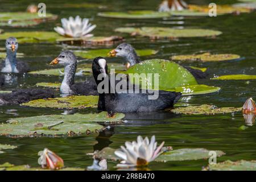
<svg viewBox="0 0 256 182"><path fill-rule="evenodd" d="M108 53L109 56L127 57L129 53L134 52L135 49L131 44L122 43L119 44L115 49Z"/></svg>

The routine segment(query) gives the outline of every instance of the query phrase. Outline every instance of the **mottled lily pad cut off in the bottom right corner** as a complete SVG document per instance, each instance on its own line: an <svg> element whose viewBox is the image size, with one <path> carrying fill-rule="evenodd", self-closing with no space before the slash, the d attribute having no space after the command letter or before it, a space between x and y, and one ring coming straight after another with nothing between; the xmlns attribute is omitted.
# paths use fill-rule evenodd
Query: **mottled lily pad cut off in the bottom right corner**
<svg viewBox="0 0 256 182"><path fill-rule="evenodd" d="M226 160L222 163L209 165L205 170L214 171L256 171L256 161L251 160L238 160L237 162L232 162L231 160Z"/></svg>

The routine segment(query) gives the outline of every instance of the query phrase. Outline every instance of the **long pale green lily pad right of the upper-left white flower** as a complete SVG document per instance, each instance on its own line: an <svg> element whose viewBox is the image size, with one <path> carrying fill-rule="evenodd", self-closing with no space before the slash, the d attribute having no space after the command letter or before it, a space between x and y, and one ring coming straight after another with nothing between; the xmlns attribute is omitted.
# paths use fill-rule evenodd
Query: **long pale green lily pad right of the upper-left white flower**
<svg viewBox="0 0 256 182"><path fill-rule="evenodd" d="M132 35L148 36L150 38L194 38L194 37L207 37L217 36L222 34L221 31L208 30L208 29L196 29L196 28L185 28L175 29L167 27L141 27L141 28L130 28L122 27L116 28L115 31L130 33Z"/></svg>

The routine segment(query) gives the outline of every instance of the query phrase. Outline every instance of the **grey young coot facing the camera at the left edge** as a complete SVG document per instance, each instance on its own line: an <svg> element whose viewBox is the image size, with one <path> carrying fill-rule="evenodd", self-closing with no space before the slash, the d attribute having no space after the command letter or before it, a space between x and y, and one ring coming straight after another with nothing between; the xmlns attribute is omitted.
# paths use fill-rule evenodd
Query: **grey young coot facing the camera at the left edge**
<svg viewBox="0 0 256 182"><path fill-rule="evenodd" d="M14 37L6 39L6 59L0 64L0 71L3 73L27 73L27 63L16 60L18 41Z"/></svg>

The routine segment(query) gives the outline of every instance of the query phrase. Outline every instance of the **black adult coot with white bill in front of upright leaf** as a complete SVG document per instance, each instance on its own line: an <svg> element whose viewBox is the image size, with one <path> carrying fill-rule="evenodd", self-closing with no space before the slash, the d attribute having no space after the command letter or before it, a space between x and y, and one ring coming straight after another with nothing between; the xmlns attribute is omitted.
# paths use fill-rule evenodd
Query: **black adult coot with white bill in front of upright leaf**
<svg viewBox="0 0 256 182"><path fill-rule="evenodd" d="M96 57L93 60L92 71L98 86L102 82L98 80L98 76L103 75L108 79L108 65L103 57ZM174 106L181 97L181 93L159 90L158 93L155 93L158 97L155 100L150 100L148 96L152 96L150 92L152 90L139 89L139 93L135 93L134 90L132 90L132 93L130 93L129 90L127 90L127 93L110 93L112 86L112 83L109 81L109 88L105 88L104 86L107 92L99 94L98 110L106 110L110 113L157 111Z"/></svg>

